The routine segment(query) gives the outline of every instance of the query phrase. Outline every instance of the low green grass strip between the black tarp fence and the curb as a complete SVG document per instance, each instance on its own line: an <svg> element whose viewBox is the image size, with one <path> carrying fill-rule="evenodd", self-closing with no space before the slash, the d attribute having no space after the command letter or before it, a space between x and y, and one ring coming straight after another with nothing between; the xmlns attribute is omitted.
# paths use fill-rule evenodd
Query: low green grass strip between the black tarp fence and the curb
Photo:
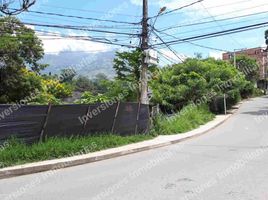
<svg viewBox="0 0 268 200"><path fill-rule="evenodd" d="M118 136L102 134L87 137L49 138L44 143L26 145L16 139L7 141L0 151L0 168L30 162L70 157L119 147L153 138L151 135Z"/></svg>

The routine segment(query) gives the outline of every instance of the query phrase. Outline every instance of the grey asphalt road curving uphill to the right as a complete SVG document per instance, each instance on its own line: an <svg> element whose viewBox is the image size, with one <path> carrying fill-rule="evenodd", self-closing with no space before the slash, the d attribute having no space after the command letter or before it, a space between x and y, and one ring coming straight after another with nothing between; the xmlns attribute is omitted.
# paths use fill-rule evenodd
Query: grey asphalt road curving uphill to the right
<svg viewBox="0 0 268 200"><path fill-rule="evenodd" d="M186 142L0 180L0 199L268 200L268 97Z"/></svg>

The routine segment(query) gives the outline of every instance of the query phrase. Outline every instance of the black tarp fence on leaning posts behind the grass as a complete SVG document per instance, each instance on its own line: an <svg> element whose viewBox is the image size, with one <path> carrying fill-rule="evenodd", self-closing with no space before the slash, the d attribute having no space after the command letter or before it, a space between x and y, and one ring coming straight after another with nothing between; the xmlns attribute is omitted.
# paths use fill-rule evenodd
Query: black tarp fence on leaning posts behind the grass
<svg viewBox="0 0 268 200"><path fill-rule="evenodd" d="M139 103L92 105L0 105L0 144L15 137L26 143L49 137L113 132L122 136L148 132L150 111Z"/></svg>

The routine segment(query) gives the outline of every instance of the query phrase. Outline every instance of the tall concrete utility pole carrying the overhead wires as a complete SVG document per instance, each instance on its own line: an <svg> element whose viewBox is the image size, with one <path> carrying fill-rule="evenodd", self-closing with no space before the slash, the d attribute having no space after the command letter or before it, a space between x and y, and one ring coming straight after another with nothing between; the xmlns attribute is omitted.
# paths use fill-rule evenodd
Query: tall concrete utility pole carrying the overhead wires
<svg viewBox="0 0 268 200"><path fill-rule="evenodd" d="M141 41L141 51L142 51L142 66L141 66L141 94L140 102L142 104L149 104L148 98L148 63L146 63L145 50L149 48L148 46L148 0L143 0L143 19L142 19L142 41Z"/></svg>

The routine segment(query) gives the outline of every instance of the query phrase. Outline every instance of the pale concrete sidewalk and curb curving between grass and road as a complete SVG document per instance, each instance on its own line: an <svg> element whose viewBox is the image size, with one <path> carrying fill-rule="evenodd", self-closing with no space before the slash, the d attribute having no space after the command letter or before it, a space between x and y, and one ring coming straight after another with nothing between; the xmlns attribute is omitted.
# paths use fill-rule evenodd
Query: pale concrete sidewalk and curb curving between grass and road
<svg viewBox="0 0 268 200"><path fill-rule="evenodd" d="M218 115L216 119L195 129L193 131L169 136L159 136L155 139L130 144L118 148L107 149L99 152L94 152L86 155L79 155L69 158L57 160L42 161L37 163L25 164L20 166L8 167L0 169L0 179L11 178L16 176L34 174L45 171L54 171L62 168L73 167L77 165L98 162L106 159L111 159L128 154L147 151L155 148L165 147L168 145L180 143L182 141L195 138L206 134L207 132L217 128L228 120L240 108L242 103L236 106L234 110L229 111L228 115Z"/></svg>

